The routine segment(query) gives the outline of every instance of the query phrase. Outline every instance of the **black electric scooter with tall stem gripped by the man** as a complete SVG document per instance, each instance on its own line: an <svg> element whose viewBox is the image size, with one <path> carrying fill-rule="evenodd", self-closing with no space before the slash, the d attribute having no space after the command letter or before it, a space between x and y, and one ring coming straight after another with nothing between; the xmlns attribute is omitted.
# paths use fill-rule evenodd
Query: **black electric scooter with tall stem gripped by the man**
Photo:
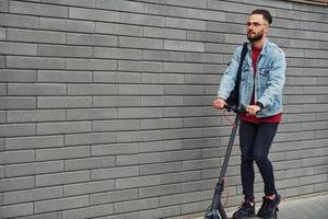
<svg viewBox="0 0 328 219"><path fill-rule="evenodd" d="M231 131L229 145L227 145L224 161L223 161L223 165L221 169L221 174L219 177L219 182L216 183L216 186L215 186L212 205L206 211L203 219L229 219L226 216L226 212L224 210L224 207L221 203L221 198L222 198L222 194L223 194L223 189L224 189L224 176L225 176L229 159L231 157L234 140L236 137L237 128L238 128L238 125L241 122L239 114L245 113L246 107L245 106L229 106L229 105L226 105L225 108L227 111L233 111L236 114L236 117L234 120L233 129ZM273 217L271 217L270 219L277 219L277 210L274 211Z"/></svg>

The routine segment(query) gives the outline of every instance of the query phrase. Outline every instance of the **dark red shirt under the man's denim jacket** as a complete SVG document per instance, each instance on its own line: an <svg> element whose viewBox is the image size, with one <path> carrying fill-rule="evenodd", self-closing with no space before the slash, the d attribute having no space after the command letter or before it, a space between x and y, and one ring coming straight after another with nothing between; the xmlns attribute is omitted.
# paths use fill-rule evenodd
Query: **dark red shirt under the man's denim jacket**
<svg viewBox="0 0 328 219"><path fill-rule="evenodd" d="M257 58L261 53L261 48L251 48L251 61L253 61L253 69L254 69L254 77L256 74L256 64L257 64ZM251 101L250 101L250 105L255 105L256 101L255 101L255 88L253 89L253 94L251 94ZM243 113L241 114L241 119L242 120L246 120L249 123L280 123L281 122L281 115L282 113L279 113L277 115L273 116L268 116L268 117L257 117L254 115L249 115L247 113Z"/></svg>

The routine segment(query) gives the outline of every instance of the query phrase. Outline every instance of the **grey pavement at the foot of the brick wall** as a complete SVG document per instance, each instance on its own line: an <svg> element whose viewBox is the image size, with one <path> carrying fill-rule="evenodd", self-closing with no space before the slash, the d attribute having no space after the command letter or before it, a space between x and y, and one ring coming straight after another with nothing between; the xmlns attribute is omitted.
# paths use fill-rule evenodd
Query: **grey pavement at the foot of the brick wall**
<svg viewBox="0 0 328 219"><path fill-rule="evenodd" d="M259 204L260 205L260 204ZM260 206L258 206L259 208ZM227 216L233 215L230 208ZM328 193L316 196L302 196L282 199L279 205L278 219L328 219ZM191 218L190 218L191 219ZM192 219L203 219L203 217L192 217ZM258 219L254 217L254 219Z"/></svg>

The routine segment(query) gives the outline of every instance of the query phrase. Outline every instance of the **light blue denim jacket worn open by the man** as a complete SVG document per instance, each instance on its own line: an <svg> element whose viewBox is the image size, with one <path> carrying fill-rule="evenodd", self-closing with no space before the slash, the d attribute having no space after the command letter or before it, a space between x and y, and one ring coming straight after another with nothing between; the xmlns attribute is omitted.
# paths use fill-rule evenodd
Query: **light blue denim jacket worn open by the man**
<svg viewBox="0 0 328 219"><path fill-rule="evenodd" d="M227 69L224 71L218 92L219 97L226 100L234 89L242 48L243 46L237 47ZM263 110L257 114L258 117L281 113L285 67L284 53L267 39L258 57L254 78L251 45L248 43L248 51L242 68L239 104L245 106L250 104L253 89L255 88L255 102L259 102L263 106Z"/></svg>

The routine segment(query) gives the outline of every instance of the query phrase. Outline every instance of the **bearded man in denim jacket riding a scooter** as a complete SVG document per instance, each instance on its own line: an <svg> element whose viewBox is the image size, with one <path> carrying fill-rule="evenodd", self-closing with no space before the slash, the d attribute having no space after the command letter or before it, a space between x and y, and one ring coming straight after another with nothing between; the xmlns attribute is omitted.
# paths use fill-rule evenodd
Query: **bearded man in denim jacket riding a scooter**
<svg viewBox="0 0 328 219"><path fill-rule="evenodd" d="M257 212L260 218L274 215L280 203L276 191L273 168L268 159L269 149L281 122L282 88L284 84L284 53L267 38L272 16L267 10L254 10L247 22L248 51L243 62L239 84L239 104L246 106L241 114L239 142L242 152L242 184L244 201L234 212L234 219L255 215L254 162L258 165L265 183L262 205ZM213 106L222 110L235 85L242 46L233 55L220 83Z"/></svg>

